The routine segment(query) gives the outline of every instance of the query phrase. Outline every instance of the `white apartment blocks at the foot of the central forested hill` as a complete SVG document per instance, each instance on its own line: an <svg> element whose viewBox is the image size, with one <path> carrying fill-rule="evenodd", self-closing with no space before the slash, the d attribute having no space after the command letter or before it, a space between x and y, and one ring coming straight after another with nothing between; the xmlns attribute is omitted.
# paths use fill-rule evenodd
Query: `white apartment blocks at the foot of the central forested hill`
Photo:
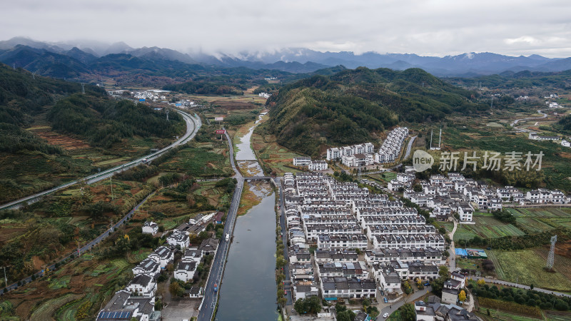
<svg viewBox="0 0 571 321"><path fill-rule="evenodd" d="M327 160L340 160L348 167L360 167L375 163L392 163L398 158L403 148L405 138L408 136L408 128L397 127L388 133L379 150L375 153L372 143L364 143L341 148L328 148Z"/></svg>

